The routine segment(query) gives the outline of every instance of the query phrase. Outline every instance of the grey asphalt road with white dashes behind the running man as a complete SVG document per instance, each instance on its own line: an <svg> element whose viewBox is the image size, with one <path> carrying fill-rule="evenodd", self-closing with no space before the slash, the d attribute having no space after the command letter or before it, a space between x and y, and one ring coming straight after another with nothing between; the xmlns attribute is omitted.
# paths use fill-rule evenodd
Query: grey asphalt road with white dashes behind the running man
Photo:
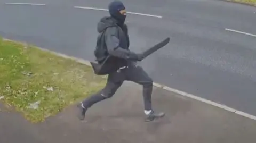
<svg viewBox="0 0 256 143"><path fill-rule="evenodd" d="M96 24L109 1L18 1L0 3L0 35L53 51L94 60ZM256 8L214 0L123 1L131 49L139 52L167 36L170 44L141 64L155 82L256 115Z"/></svg>

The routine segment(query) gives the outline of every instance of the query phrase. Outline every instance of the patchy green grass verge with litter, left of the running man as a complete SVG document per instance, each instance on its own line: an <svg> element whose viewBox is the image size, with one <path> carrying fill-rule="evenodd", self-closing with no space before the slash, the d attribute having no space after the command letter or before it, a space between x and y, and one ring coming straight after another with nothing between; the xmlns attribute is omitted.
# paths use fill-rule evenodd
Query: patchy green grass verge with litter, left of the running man
<svg viewBox="0 0 256 143"><path fill-rule="evenodd" d="M31 122L44 121L105 83L106 77L94 75L89 66L0 39L0 102L15 107ZM38 101L38 108L29 107Z"/></svg>

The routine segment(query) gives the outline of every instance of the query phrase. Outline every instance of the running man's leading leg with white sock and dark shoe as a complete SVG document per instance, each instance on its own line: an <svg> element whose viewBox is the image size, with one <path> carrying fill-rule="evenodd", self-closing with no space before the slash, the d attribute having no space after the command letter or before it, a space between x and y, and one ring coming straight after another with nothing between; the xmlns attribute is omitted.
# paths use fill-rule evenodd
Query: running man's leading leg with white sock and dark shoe
<svg viewBox="0 0 256 143"><path fill-rule="evenodd" d="M158 114L154 113L151 105L153 80L140 66L129 66L129 68L126 70L126 80L133 81L143 86L143 102L145 114L147 115L145 121L152 121L155 118L163 117L165 115L163 112Z"/></svg>

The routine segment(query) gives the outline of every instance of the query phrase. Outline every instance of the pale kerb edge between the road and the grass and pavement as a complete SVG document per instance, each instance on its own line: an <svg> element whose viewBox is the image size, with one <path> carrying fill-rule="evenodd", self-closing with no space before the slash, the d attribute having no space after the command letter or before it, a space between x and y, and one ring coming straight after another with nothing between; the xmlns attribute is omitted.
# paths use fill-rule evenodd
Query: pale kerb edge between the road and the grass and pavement
<svg viewBox="0 0 256 143"><path fill-rule="evenodd" d="M3 40L10 40L10 39L3 38ZM13 41L13 40L10 40L10 41ZM50 53L52 53L54 55L57 55L57 56L60 56L60 57L66 58L66 59L74 60L74 61L76 61L78 63L85 64L87 66L91 66L92 67L90 61L83 60L82 58L76 58L76 57L68 56L68 55L65 55L65 54L62 54L62 53L53 52L53 51L50 51L49 49L45 49L45 48L40 48L40 47L36 47L36 48L41 49L42 51L50 52ZM231 108L231 107L228 107L226 105L215 103L215 102L212 102L211 100L207 100L207 99L204 99L204 98L192 95L192 94L188 94L187 92L183 92L183 91L180 91L178 89L167 87L167 86L162 85L160 83L153 82L153 86L155 86L157 88L161 88L161 89L167 90L167 91L170 91L170 92L174 92L175 94L178 94L180 96L185 96L185 97L188 97L188 98L191 98L191 99L195 99L195 100L198 100L200 102L203 102L203 103L215 106L215 107L222 108L223 110L226 110L226 111L229 111L229 112L235 113L237 115L241 115L241 116L244 116L244 117L247 117L249 119L252 119L252 120L256 121L256 116L248 114L248 113L245 113L245 112L242 112L242 111L238 111L238 110L236 110L234 108Z"/></svg>

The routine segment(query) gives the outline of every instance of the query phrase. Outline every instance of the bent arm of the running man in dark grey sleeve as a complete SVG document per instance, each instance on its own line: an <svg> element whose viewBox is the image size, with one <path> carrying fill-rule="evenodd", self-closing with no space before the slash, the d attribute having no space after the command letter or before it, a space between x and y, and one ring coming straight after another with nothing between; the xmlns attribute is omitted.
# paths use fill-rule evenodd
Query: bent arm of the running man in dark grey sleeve
<svg viewBox="0 0 256 143"><path fill-rule="evenodd" d="M119 46L119 39L116 36L117 31L114 28L108 28L106 31L106 46L111 56L124 58L126 60L137 60L137 54Z"/></svg>

